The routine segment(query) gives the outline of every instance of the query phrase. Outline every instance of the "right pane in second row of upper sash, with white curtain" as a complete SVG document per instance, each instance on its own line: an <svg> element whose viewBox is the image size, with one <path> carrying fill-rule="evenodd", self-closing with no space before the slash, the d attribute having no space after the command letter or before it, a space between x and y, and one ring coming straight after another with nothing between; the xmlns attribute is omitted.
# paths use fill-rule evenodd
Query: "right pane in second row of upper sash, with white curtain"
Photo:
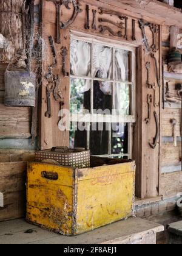
<svg viewBox="0 0 182 256"><path fill-rule="evenodd" d="M115 109L117 115L132 115L132 85L116 83Z"/></svg>

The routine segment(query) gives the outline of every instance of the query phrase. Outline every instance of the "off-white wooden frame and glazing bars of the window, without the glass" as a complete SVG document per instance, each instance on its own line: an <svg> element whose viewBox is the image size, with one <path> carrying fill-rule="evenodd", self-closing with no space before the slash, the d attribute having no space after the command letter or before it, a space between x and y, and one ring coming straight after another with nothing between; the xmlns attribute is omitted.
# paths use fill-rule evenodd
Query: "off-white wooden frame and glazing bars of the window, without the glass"
<svg viewBox="0 0 182 256"><path fill-rule="evenodd" d="M104 120L104 123L128 123L129 124L129 141L128 141L128 154L112 154L109 152L107 155L99 155L100 157L128 157L132 158L132 153L133 153L133 123L136 122L136 49L138 46L136 45L131 45L129 43L123 43L123 41L117 41L117 40L112 40L106 37L99 37L95 35L90 35L90 34L84 34L81 32L75 32L71 31L70 33L70 42L71 40L78 40L78 41L84 41L86 43L91 44L91 56L93 57L93 44L99 44L102 46L107 46L112 48L112 80L110 79L99 79L93 77L93 59L91 58L91 75L90 77L85 77L85 76L74 76L70 74L70 80L71 79L85 79L85 80L90 80L92 81L91 85L91 92L90 92L90 105L91 105L91 112L88 114L74 114L70 113L70 123L86 123L87 127L87 149L90 148L90 124L92 123L100 123L99 120ZM115 49L123 49L126 51L129 51L132 56L130 56L130 68L132 68L131 74L131 82L125 81L121 82L120 80L115 80L115 58L113 55L115 54ZM103 81L103 82L111 82L113 84L112 86L112 108L114 109L115 105L115 88L116 88L116 83L118 84L123 84L123 85L129 85L131 86L132 90L132 104L131 104L131 113L132 115L127 115L127 116L121 116L121 115L99 115L99 114L94 114L93 113L93 81ZM70 96L69 96L70 99ZM112 121L110 121L112 116ZM119 122L118 122L119 118ZM116 121L114 121L116 120ZM109 149L111 149L111 131L109 133Z"/></svg>

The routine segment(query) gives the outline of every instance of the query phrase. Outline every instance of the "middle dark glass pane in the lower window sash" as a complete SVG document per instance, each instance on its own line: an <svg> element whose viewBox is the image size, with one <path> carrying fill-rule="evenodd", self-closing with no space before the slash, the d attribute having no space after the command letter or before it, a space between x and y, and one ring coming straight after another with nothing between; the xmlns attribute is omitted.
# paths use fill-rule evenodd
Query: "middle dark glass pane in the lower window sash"
<svg viewBox="0 0 182 256"><path fill-rule="evenodd" d="M90 152L92 155L109 154L109 124L92 123L90 127Z"/></svg>

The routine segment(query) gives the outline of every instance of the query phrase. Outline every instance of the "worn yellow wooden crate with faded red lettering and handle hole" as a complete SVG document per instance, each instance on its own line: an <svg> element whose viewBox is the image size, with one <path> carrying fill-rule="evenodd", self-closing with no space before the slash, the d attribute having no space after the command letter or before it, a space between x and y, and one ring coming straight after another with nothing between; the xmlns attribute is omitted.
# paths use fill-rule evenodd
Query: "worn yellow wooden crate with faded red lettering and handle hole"
<svg viewBox="0 0 182 256"><path fill-rule="evenodd" d="M78 235L133 213L135 162L74 169L29 163L27 221Z"/></svg>

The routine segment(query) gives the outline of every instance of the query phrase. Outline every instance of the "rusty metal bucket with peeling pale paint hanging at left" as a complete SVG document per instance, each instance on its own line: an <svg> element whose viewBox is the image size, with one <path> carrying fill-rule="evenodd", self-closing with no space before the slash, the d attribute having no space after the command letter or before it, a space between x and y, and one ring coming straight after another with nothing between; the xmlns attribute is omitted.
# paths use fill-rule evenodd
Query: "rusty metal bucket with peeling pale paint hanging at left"
<svg viewBox="0 0 182 256"><path fill-rule="evenodd" d="M36 78L27 71L5 71L5 105L35 107Z"/></svg>

